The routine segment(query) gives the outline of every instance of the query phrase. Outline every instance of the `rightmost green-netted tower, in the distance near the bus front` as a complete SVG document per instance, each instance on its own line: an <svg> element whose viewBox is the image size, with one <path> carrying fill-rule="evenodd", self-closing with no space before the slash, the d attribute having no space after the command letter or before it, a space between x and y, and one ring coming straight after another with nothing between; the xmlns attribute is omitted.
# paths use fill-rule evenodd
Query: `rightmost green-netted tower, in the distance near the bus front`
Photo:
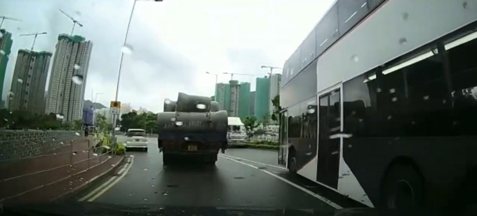
<svg viewBox="0 0 477 216"><path fill-rule="evenodd" d="M262 120L269 115L269 78L257 78L255 87L255 117Z"/></svg>

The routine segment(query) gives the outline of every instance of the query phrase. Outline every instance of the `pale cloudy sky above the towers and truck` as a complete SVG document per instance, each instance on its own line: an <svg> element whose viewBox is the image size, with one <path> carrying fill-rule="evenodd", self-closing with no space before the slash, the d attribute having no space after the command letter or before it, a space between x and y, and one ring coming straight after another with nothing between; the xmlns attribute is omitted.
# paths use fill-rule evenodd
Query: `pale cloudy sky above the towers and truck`
<svg viewBox="0 0 477 216"><path fill-rule="evenodd" d="M114 100L121 48L133 0L0 0L2 29L13 36L4 95L11 86L19 49L29 49L33 37L19 36L46 31L38 36L35 51L55 52L58 34L70 34L72 22L59 9L79 20L74 29L93 42L84 99L106 106ZM177 92L213 96L215 75L219 82L251 82L269 69L282 67L302 43L333 0L138 0L130 23L123 58L119 101L133 108L162 110L164 99ZM53 64L53 58L51 60ZM281 73L281 71L274 71ZM47 82L48 85L48 82Z"/></svg>

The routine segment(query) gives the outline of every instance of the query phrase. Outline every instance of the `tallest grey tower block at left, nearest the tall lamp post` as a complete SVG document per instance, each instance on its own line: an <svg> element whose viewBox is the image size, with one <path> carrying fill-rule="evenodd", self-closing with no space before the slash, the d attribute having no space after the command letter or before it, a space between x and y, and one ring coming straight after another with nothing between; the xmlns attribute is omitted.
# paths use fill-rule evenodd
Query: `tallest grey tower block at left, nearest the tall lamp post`
<svg viewBox="0 0 477 216"><path fill-rule="evenodd" d="M60 113L67 122L81 120L93 43L82 36L60 34L51 69L46 113Z"/></svg>

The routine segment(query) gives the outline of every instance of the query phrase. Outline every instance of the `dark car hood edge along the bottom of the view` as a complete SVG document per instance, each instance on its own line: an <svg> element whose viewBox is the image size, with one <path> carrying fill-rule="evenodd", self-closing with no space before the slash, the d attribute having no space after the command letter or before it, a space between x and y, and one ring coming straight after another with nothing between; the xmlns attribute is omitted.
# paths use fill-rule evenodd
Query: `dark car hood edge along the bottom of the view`
<svg viewBox="0 0 477 216"><path fill-rule="evenodd" d="M190 207L190 206L159 206L159 205L118 205L110 203L48 203L41 205L22 205L3 209L0 215L374 215L369 214L368 208L350 208L342 210L316 209L276 209L276 208L220 208L220 207Z"/></svg>

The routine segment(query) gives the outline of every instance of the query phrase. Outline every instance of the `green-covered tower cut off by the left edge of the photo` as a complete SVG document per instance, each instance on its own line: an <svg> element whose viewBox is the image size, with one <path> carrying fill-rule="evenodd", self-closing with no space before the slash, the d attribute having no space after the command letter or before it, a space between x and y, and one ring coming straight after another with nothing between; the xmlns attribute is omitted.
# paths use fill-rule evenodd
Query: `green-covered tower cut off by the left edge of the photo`
<svg viewBox="0 0 477 216"><path fill-rule="evenodd" d="M6 74L6 64L10 57L13 40L12 34L5 29L0 29L0 99L4 95L4 82ZM8 100L8 96L7 96Z"/></svg>

